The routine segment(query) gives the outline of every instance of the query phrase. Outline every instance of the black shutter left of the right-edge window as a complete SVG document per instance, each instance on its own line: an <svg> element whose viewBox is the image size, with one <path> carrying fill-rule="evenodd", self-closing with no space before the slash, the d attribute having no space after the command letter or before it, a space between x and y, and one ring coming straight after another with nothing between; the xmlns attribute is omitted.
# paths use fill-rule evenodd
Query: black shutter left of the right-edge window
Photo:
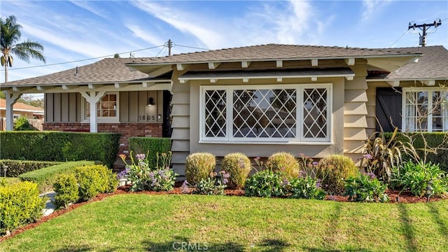
<svg viewBox="0 0 448 252"><path fill-rule="evenodd" d="M384 132L393 132L395 127L401 129L401 99L401 87L377 87L376 116Z"/></svg>

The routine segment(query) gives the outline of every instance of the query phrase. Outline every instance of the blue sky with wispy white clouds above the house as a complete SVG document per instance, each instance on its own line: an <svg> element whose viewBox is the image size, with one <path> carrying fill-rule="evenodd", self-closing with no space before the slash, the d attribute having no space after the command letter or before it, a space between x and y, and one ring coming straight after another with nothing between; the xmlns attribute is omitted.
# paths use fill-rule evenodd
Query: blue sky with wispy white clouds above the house
<svg viewBox="0 0 448 252"><path fill-rule="evenodd" d="M15 60L8 80L42 76L104 57L172 53L283 43L398 48L448 48L448 1L22 1L1 0L1 18L15 15L27 38L44 46L46 64ZM88 60L85 60L88 59ZM66 63L71 62L71 63ZM4 70L0 71L0 83Z"/></svg>

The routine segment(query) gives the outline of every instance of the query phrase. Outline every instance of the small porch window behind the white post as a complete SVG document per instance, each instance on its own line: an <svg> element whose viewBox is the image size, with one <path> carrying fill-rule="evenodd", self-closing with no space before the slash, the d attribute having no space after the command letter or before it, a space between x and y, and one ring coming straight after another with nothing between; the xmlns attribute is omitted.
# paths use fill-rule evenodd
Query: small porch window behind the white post
<svg viewBox="0 0 448 252"><path fill-rule="evenodd" d="M90 118L90 104L84 100L85 120ZM118 121L118 92L108 92L97 102L97 120Z"/></svg>

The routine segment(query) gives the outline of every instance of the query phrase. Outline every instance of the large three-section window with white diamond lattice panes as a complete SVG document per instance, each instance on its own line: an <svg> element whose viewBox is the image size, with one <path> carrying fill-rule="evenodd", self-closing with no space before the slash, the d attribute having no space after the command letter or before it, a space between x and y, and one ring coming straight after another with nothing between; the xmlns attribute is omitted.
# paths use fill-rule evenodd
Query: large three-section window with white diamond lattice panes
<svg viewBox="0 0 448 252"><path fill-rule="evenodd" d="M330 87L202 86L202 141L330 141Z"/></svg>

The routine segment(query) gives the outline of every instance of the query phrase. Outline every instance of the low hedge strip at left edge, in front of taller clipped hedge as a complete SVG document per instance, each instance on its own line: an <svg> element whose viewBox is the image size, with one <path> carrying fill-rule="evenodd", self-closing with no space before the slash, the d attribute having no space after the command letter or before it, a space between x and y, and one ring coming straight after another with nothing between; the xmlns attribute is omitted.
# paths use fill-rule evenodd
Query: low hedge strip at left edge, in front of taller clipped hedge
<svg viewBox="0 0 448 252"><path fill-rule="evenodd" d="M2 143L3 144L3 143ZM48 161L27 161L27 160L0 160L0 168L8 166L6 170L6 176L16 177L20 174L25 174L37 169L50 167L52 165L58 165L60 162L48 162ZM0 170L1 176L4 175L3 168Z"/></svg>

